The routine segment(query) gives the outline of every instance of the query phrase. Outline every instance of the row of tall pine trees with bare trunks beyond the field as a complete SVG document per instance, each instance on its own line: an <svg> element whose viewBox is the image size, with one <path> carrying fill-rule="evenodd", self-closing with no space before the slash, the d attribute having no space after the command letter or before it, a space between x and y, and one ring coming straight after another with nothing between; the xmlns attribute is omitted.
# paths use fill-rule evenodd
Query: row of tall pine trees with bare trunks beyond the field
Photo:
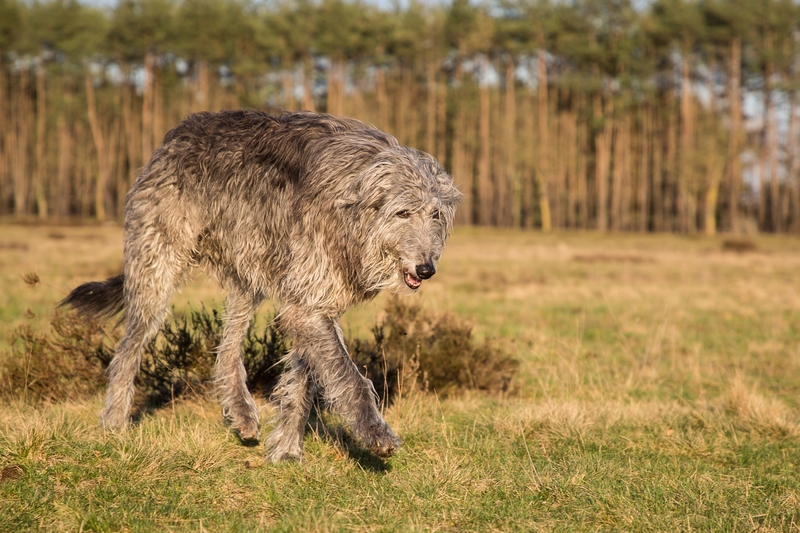
<svg viewBox="0 0 800 533"><path fill-rule="evenodd" d="M426 150L462 224L800 232L792 0L0 0L0 215L122 216L201 110L350 115Z"/></svg>

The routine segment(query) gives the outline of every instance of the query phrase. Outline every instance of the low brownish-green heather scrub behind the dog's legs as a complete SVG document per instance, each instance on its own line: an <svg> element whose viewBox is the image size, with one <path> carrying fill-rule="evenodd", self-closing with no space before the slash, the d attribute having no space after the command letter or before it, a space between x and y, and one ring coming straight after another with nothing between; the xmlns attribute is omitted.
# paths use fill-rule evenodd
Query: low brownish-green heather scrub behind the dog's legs
<svg viewBox="0 0 800 533"><path fill-rule="evenodd" d="M208 392L222 331L223 319L215 309L201 307L168 320L145 349L137 398L156 407L187 392ZM0 367L3 394L59 401L102 390L120 335L119 327L104 328L61 311L53 315L47 334L20 328L11 357ZM387 304L386 318L373 328L372 339L347 344L384 402L401 387L434 389L440 395L459 389L507 392L518 366L490 342L476 344L467 323L448 314L430 316L396 299ZM287 350L274 320L264 327L251 325L242 346L251 391L272 391Z"/></svg>

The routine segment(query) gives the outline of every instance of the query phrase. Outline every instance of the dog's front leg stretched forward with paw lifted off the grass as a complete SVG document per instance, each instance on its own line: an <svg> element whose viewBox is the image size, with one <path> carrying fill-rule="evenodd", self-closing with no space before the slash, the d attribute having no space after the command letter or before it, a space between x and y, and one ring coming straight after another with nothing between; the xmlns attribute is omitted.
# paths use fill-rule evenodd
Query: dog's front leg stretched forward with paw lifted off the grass
<svg viewBox="0 0 800 533"><path fill-rule="evenodd" d="M344 418L369 451L379 457L391 457L401 441L378 410L372 382L350 359L336 320L305 310L282 314L281 320L294 337L295 356L308 365L325 402Z"/></svg>

